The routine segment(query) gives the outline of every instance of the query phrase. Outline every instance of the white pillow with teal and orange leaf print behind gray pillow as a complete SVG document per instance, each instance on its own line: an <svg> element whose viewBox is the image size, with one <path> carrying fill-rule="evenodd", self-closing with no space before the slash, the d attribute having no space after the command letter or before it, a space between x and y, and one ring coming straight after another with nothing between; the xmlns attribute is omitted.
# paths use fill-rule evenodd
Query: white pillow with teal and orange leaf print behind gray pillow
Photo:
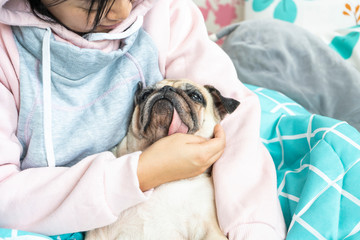
<svg viewBox="0 0 360 240"><path fill-rule="evenodd" d="M244 19L279 19L322 39L360 70L360 2L357 0L248 0Z"/></svg>

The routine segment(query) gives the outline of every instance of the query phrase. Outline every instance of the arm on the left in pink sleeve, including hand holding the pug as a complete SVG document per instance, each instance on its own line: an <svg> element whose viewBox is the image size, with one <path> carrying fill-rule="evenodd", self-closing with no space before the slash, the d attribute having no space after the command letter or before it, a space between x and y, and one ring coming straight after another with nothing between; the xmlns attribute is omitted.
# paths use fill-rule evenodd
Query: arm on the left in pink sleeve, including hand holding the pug
<svg viewBox="0 0 360 240"><path fill-rule="evenodd" d="M0 227L46 235L112 223L121 211L147 199L141 190L203 172L221 155L225 139L221 133L210 141L175 134L143 152L139 164L140 152L119 159L103 152L70 168L20 171L17 109L12 94L2 84L0 115ZM216 149L215 156L205 157L204 153L212 154ZM198 161L182 161L195 160L194 156Z"/></svg>

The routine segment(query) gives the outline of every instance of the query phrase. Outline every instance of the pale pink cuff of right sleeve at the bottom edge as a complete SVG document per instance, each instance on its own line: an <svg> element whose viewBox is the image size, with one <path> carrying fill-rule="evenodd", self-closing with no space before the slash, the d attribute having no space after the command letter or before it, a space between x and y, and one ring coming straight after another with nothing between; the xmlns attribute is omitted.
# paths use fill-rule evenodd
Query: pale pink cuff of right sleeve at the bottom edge
<svg viewBox="0 0 360 240"><path fill-rule="evenodd" d="M274 228L263 223L243 224L229 232L229 240L283 240Z"/></svg>

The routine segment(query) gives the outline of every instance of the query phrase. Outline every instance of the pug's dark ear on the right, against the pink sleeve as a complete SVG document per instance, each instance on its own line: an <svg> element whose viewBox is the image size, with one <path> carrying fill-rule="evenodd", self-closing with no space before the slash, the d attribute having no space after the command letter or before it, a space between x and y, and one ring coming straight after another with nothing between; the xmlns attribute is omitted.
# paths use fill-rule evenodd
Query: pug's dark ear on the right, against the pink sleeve
<svg viewBox="0 0 360 240"><path fill-rule="evenodd" d="M214 100L214 103L215 103L215 107L220 114L221 120L224 119L226 114L234 112L235 109L239 106L239 104L240 104L239 101L237 101L233 98L226 98L226 97L222 96L221 93L219 92L219 90L217 90L213 86L205 85L204 87L211 94L211 96Z"/></svg>

